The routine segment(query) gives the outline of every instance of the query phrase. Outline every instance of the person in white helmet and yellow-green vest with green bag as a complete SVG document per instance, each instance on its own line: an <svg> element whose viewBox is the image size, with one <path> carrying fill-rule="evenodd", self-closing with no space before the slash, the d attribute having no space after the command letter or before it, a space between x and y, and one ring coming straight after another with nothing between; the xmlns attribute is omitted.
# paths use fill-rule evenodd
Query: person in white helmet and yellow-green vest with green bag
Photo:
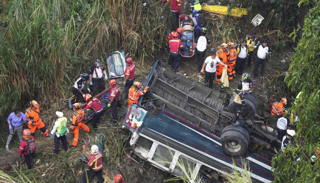
<svg viewBox="0 0 320 183"><path fill-rule="evenodd" d="M62 143L63 149L65 151L68 150L68 144L67 144L67 137L66 135L69 133L69 130L67 129L67 132L61 136L60 135L60 131L62 129L62 126L66 127L67 125L67 118L63 117L63 113L57 111L56 115L58 117L58 119L54 122L54 126L50 132L51 136L54 135L54 151L53 154L59 154L59 145L60 145L60 141Z"/></svg>

